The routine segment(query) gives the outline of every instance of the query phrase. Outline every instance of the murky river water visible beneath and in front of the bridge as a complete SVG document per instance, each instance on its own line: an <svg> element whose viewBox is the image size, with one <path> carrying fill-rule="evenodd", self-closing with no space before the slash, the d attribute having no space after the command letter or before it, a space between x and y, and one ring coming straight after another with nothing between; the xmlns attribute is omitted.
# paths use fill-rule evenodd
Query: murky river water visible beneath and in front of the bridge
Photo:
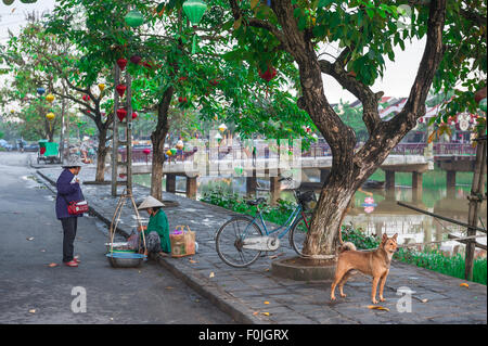
<svg viewBox="0 0 488 346"><path fill-rule="evenodd" d="M149 176L136 176L134 181L149 185L151 179ZM236 193L244 195L246 192L245 178L223 178L223 177L201 177L198 178L197 198L204 193L216 188L222 189L227 193ZM258 178L258 196L269 196L269 180ZM457 185L455 193L449 195L446 188L425 188L423 189L422 198L413 202L412 189L410 187L396 187L393 197L388 197L385 190L362 190L355 195L354 207L345 218L346 225L354 228L363 229L367 234L381 235L387 233L393 235L398 233L400 244L426 243L447 239L447 234L451 233L458 236L465 236L466 230L463 227L435 219L431 216L423 215L401 207L397 201L402 201L414 205L424 210L446 216L467 223L467 195L470 194L470 185ZM177 191L185 190L185 178L177 177ZM373 198L374 208L368 208ZM282 191L281 198L293 201L291 191ZM487 225L487 203L483 202L478 213L478 227L486 228ZM480 234L480 233L478 233ZM478 243L486 244L486 238L477 239ZM442 242L440 249L447 253L458 253L464 251L464 245L454 242ZM478 256L486 256L486 252L476 249Z"/></svg>

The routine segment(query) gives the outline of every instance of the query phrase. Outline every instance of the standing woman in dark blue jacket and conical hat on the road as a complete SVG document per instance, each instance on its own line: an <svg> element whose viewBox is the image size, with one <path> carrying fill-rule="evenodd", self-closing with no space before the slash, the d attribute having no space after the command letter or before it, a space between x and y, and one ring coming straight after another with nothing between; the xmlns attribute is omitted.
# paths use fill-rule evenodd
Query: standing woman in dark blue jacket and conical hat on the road
<svg viewBox="0 0 488 346"><path fill-rule="evenodd" d="M57 178L56 217L63 226L63 262L68 267L78 267L79 260L74 257L74 245L78 217L68 213L68 203L84 200L79 180L76 177L84 164L78 156L70 156L62 167L64 170Z"/></svg>

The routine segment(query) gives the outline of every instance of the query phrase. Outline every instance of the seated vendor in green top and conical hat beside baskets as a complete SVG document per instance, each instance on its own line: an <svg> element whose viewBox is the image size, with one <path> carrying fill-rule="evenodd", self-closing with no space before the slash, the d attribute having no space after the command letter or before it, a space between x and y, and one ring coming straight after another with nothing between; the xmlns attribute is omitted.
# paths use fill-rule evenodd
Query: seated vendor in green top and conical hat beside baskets
<svg viewBox="0 0 488 346"><path fill-rule="evenodd" d="M147 196L138 207L138 210L146 209L150 215L147 227L142 227L147 252L167 256L171 253L171 244L169 242L168 218L162 209L163 206L164 204L156 198Z"/></svg>

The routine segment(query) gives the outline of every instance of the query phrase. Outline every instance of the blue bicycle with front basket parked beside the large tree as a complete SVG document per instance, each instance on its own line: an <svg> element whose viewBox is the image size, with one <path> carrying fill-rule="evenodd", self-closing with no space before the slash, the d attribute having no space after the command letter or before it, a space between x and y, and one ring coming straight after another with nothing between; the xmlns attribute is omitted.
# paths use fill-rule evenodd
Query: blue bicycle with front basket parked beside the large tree
<svg viewBox="0 0 488 346"><path fill-rule="evenodd" d="M281 178L279 181L283 180L292 179ZM317 204L317 197L313 191L300 192L294 189L293 193L297 202L296 208L284 225L272 230L266 227L259 208L266 200L258 197L247 201L249 206L257 207L257 215L254 218L246 215L234 216L220 227L215 238L219 257L231 267L251 266L258 259L261 252L277 251L280 247L280 240L288 232L290 245L301 256L303 244L309 229L306 212L313 208L312 204ZM259 221L262 228L258 225Z"/></svg>

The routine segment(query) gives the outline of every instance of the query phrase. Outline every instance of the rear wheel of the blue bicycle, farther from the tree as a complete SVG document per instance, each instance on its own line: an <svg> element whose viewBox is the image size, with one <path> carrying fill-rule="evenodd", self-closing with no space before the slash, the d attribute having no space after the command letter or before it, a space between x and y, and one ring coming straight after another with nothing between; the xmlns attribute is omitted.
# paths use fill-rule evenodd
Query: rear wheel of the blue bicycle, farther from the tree
<svg viewBox="0 0 488 346"><path fill-rule="evenodd" d="M260 251L243 248L243 240L261 236L262 231L252 219L236 216L222 225L215 239L219 257L229 266L244 268L258 259Z"/></svg>

